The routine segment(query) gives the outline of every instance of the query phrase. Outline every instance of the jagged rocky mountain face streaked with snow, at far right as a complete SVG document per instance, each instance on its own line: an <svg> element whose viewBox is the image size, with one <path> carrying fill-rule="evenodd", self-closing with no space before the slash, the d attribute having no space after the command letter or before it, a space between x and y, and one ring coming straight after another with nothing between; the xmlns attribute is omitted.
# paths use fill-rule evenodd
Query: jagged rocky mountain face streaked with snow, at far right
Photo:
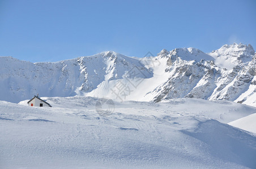
<svg viewBox="0 0 256 169"><path fill-rule="evenodd" d="M178 55L177 51L182 56ZM187 51L189 50L175 49L168 55L169 68L166 72L172 72L172 74L170 74L167 82L152 91L157 93L154 101L190 97L209 100L236 100L242 103L248 96L241 95L246 91L249 92L249 88L256 88L255 80L253 80L256 74L256 55L251 45L238 45L236 43L230 46L224 45L219 50L209 54L217 57L211 61L200 60L191 63L191 61L181 62L173 59L174 55L178 59L183 57L184 60L189 60L188 57L184 57L184 54L189 53ZM193 59L198 54L204 55L202 52L194 52L194 56L190 58ZM218 62L220 60L226 63L230 62L231 65L228 65L228 68L220 68L219 65L224 65ZM250 91L249 96L255 95L254 90Z"/></svg>

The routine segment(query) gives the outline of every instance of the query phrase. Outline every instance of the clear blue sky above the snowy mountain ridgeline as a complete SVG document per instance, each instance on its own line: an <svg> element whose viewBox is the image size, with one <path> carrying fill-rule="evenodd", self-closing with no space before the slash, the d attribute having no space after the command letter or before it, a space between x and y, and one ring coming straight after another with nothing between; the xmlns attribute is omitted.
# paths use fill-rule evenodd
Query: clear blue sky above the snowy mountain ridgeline
<svg viewBox="0 0 256 169"><path fill-rule="evenodd" d="M59 61L116 51L143 57L163 48L256 50L256 1L0 0L0 56Z"/></svg>

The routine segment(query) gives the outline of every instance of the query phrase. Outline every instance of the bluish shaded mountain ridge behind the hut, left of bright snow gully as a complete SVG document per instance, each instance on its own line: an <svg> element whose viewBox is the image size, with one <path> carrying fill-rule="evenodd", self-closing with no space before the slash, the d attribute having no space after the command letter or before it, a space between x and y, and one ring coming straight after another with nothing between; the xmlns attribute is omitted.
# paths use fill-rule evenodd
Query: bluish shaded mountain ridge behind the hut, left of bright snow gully
<svg viewBox="0 0 256 169"><path fill-rule="evenodd" d="M80 95L94 90L101 82L122 78L134 66L139 69L136 71L152 76L139 60L110 51L57 63L33 64L0 57L0 99L19 103L37 93L61 97ZM141 78L141 75L134 77Z"/></svg>

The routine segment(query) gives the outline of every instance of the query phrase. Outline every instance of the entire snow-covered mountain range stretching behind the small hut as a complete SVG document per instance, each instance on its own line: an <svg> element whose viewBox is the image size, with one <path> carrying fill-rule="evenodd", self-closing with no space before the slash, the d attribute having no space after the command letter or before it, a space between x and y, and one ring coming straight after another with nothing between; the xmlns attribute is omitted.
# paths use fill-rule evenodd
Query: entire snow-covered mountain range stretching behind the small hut
<svg viewBox="0 0 256 169"><path fill-rule="evenodd" d="M224 45L210 54L196 48L127 57L108 51L57 63L0 57L0 100L40 96L110 97L159 102L190 97L256 106L256 55L251 45Z"/></svg>

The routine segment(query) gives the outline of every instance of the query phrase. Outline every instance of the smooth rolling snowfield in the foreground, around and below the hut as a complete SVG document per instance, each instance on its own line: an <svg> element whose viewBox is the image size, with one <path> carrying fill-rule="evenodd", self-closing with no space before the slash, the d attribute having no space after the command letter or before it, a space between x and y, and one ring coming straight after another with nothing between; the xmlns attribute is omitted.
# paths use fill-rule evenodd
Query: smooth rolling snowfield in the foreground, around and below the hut
<svg viewBox="0 0 256 169"><path fill-rule="evenodd" d="M0 101L0 168L256 168L252 106L127 101L100 115L93 97L44 99L53 108Z"/></svg>

